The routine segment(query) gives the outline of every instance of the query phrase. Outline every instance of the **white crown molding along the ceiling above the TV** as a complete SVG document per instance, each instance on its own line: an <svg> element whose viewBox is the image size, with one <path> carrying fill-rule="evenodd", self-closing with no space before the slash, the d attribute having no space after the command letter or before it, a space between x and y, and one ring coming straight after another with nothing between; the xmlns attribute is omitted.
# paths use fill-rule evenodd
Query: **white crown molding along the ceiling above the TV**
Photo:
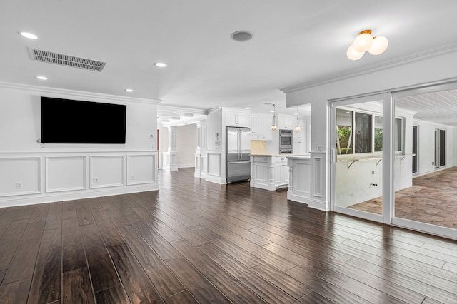
<svg viewBox="0 0 457 304"><path fill-rule="evenodd" d="M126 96L118 96L118 95L109 95L109 94L103 94L103 93L69 90L66 88L53 88L50 86L31 86L29 84L11 83L11 82L4 82L4 81L0 81L0 88L11 88L14 90L30 91L30 92L36 93L38 95L63 94L66 96L74 96L74 97L78 97L78 98L96 98L96 99L101 99L101 100L106 100L106 101L124 101L124 102L128 102L128 103L159 104L162 102L159 99L134 98L134 97L126 97Z"/></svg>

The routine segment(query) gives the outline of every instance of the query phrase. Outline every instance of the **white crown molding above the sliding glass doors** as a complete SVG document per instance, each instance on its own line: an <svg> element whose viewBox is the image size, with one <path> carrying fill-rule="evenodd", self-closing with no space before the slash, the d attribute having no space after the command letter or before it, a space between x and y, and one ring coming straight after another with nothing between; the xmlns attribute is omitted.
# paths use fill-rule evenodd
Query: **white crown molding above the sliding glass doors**
<svg viewBox="0 0 457 304"><path fill-rule="evenodd" d="M390 61L384 61L380 64L372 64L370 66L366 66L365 68L357 69L356 71L350 71L350 72L338 74L337 76L333 76L331 78L321 78L316 81L308 81L306 83L297 84L295 86L288 86L286 88L281 88L280 91L283 91L284 93L293 93L295 91L301 91L301 90L304 90L307 88L313 88L313 87L321 86L321 85L327 84L327 83L333 83L336 81L341 81L341 80L353 78L356 76L363 76L366 74L371 74L376 71L391 69L396 66L402 66L405 64L410 64L412 62L422 61L422 60L429 59L432 57L450 54L455 51L457 51L457 44L441 46L438 48L428 49L426 51L420 51L420 52L416 52L413 54L409 54L408 56L401 56L401 57L398 57L397 59L393 59Z"/></svg>

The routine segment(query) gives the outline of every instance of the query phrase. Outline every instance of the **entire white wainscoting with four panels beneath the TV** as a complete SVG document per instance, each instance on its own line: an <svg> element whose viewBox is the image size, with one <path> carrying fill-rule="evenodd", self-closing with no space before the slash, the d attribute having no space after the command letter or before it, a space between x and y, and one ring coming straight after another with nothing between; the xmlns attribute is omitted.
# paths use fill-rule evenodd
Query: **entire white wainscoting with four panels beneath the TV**
<svg viewBox="0 0 457 304"><path fill-rule="evenodd" d="M157 151L0 153L0 208L159 190L156 159ZM129 185L127 172L135 175Z"/></svg>

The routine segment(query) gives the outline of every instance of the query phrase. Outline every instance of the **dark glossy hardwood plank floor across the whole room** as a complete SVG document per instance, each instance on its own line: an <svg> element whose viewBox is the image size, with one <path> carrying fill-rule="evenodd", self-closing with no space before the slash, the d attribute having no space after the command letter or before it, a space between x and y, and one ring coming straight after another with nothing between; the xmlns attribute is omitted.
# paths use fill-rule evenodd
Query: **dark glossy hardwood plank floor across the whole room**
<svg viewBox="0 0 457 304"><path fill-rule="evenodd" d="M161 171L0 208L0 303L457 303L457 242Z"/></svg>

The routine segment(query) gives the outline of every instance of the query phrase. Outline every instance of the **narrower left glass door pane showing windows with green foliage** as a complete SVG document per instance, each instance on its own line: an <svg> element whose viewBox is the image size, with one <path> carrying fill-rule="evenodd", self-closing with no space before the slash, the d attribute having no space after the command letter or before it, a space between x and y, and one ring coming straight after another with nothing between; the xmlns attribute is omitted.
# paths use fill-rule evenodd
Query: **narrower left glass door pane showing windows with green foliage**
<svg viewBox="0 0 457 304"><path fill-rule="evenodd" d="M356 216L383 214L383 103L335 106L334 209Z"/></svg>

